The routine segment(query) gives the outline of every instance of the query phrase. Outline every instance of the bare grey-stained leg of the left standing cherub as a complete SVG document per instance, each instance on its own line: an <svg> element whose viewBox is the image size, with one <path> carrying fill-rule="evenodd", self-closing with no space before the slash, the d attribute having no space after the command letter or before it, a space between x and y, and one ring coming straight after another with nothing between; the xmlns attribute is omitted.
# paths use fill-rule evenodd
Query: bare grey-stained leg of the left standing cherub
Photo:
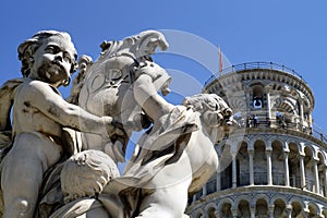
<svg viewBox="0 0 327 218"><path fill-rule="evenodd" d="M1 174L4 218L34 216L43 174L60 158L56 146L34 134L15 137Z"/></svg>

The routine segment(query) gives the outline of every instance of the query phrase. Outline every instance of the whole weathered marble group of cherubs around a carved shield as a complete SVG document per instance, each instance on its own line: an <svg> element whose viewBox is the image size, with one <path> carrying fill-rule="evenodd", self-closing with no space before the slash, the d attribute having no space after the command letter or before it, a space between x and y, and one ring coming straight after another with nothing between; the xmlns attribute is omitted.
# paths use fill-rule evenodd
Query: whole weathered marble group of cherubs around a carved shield
<svg viewBox="0 0 327 218"><path fill-rule="evenodd" d="M214 145L233 125L223 99L165 99L172 78L152 58L168 48L160 32L100 47L96 61L77 61L70 35L57 31L19 46L22 77L0 87L1 217L187 217L187 196L216 172ZM76 70L63 99L57 88Z"/></svg>

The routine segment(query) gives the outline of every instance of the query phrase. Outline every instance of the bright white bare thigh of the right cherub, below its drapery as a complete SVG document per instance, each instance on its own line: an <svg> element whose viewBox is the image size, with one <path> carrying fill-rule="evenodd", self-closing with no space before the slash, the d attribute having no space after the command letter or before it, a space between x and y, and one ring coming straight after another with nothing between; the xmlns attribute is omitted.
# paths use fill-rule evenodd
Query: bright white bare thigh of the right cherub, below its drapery
<svg viewBox="0 0 327 218"><path fill-rule="evenodd" d="M143 191L140 215L136 218L183 217L187 204L190 180L177 185Z"/></svg>

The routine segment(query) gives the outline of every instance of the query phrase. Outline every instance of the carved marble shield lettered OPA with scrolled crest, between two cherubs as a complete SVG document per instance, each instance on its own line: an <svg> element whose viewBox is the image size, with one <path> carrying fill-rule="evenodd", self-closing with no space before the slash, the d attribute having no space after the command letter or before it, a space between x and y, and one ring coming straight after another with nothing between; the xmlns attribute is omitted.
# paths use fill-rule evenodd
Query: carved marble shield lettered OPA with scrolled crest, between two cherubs
<svg viewBox="0 0 327 218"><path fill-rule="evenodd" d="M85 58L84 61L82 60L80 72L83 76L80 77L84 78L75 83L75 87L82 83L80 92L72 88L74 90L72 93L78 93L78 100L75 102L94 114L113 117L118 122L123 123L128 135L132 131L149 126L150 122L135 101L131 87L140 68L152 64L161 69L153 62L150 56L157 48L161 50L168 48L165 36L157 31L145 31L122 40L104 41L100 47L102 51L95 62ZM164 76L154 83L157 90L161 89L166 94L171 77L165 70L161 74ZM89 135L85 137L94 138ZM93 147L90 144L99 143L89 140L86 144Z"/></svg>

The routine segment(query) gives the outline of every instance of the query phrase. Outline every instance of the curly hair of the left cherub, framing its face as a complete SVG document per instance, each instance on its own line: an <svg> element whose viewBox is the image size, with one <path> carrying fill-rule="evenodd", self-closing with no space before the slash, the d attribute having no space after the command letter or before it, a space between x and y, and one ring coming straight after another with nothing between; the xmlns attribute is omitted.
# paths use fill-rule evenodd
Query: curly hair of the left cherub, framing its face
<svg viewBox="0 0 327 218"><path fill-rule="evenodd" d="M22 61L21 72L24 77L27 77L31 73L31 68L34 63L33 55L40 47L43 40L51 36L62 36L71 40L71 36L68 33L57 31L41 31L36 33L32 38L25 40L19 46L19 59ZM75 59L73 60L71 66L71 73L75 72L77 69L77 55L75 55L74 58Z"/></svg>

